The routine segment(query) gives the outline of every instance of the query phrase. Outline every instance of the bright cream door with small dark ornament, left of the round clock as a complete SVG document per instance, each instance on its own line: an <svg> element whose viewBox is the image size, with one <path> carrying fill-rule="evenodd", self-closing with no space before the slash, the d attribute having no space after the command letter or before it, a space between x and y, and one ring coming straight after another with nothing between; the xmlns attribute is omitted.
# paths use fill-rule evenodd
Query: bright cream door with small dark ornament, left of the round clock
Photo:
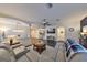
<svg viewBox="0 0 87 65"><path fill-rule="evenodd" d="M65 28L57 28L57 41L65 41Z"/></svg>

